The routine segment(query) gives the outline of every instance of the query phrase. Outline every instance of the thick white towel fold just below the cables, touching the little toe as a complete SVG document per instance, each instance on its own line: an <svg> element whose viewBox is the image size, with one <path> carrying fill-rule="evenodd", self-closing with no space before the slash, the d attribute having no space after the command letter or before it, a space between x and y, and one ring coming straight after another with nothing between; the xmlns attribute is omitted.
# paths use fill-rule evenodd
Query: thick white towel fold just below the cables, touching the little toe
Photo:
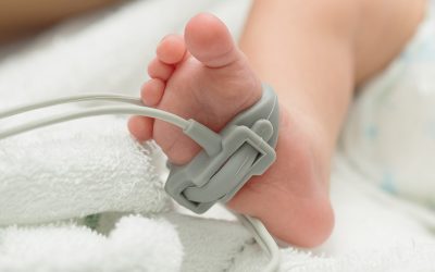
<svg viewBox="0 0 435 272"><path fill-rule="evenodd" d="M2 140L0 224L171 209L152 147L139 146L125 122L74 121Z"/></svg>

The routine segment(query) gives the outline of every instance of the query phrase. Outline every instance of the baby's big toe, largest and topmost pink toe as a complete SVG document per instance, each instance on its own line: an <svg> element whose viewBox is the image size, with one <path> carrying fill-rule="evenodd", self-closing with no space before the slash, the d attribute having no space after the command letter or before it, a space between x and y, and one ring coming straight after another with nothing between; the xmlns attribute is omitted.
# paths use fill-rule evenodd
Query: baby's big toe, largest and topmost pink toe
<svg viewBox="0 0 435 272"><path fill-rule="evenodd" d="M209 67L226 66L240 57L224 23L209 13L192 17L186 25L184 38L188 51Z"/></svg>

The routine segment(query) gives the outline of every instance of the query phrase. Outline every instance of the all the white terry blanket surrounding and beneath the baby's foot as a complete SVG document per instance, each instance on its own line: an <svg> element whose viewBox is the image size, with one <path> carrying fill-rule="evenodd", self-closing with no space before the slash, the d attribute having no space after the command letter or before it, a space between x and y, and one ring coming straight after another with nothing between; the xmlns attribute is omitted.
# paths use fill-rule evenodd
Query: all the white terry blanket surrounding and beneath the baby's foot
<svg viewBox="0 0 435 272"><path fill-rule="evenodd" d="M0 51L0 107L78 92L137 95L161 37L200 11L217 14L238 36L248 8L231 0L130 1L73 20ZM121 116L0 141L0 271L261 271L266 256L223 209L209 219L169 212L160 164ZM340 154L335 165L332 238L313 251L283 249L282 270L435 270L433 213L370 187Z"/></svg>

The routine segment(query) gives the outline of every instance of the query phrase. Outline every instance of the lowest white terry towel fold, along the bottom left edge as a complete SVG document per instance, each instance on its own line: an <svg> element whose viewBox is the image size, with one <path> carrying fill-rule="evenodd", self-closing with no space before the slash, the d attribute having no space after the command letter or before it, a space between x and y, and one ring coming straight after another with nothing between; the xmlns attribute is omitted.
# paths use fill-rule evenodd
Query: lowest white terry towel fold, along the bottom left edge
<svg viewBox="0 0 435 272"><path fill-rule="evenodd" d="M179 271L183 247L164 219L122 218L103 236L76 223L0 228L0 271Z"/></svg>

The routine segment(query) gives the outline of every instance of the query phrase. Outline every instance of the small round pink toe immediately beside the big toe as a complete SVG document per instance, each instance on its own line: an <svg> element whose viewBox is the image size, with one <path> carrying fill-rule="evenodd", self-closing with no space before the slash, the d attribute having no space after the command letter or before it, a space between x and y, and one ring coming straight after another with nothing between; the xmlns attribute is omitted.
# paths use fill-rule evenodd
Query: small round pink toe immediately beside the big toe
<svg viewBox="0 0 435 272"><path fill-rule="evenodd" d="M183 37L178 35L167 35L157 47L157 57L166 64L176 64L183 60L186 46Z"/></svg>

